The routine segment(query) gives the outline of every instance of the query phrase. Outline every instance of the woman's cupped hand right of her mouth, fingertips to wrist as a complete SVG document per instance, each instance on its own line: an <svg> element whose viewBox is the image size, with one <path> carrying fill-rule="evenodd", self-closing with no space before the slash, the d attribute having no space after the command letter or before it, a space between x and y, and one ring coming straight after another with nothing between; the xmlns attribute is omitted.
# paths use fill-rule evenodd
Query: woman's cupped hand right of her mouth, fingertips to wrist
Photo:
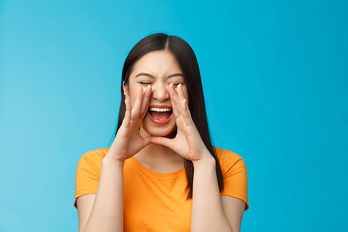
<svg viewBox="0 0 348 232"><path fill-rule="evenodd" d="M179 84L175 89L173 83L170 84L168 93L171 95L171 105L176 120L177 134L174 139L152 137L151 142L167 146L192 162L199 162L205 157L212 157L200 137L196 125L192 121L187 99L184 98L184 92L182 91L182 85Z"/></svg>

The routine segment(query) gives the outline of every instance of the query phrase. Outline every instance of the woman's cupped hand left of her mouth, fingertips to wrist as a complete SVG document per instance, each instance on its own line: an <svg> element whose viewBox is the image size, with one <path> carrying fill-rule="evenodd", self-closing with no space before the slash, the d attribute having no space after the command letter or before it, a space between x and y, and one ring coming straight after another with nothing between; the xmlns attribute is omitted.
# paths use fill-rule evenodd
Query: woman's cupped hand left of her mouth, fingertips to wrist
<svg viewBox="0 0 348 232"><path fill-rule="evenodd" d="M125 160L151 144L151 137L141 137L139 130L141 121L148 114L150 97L151 86L148 85L145 91L142 87L139 87L133 108L129 100L125 99L125 118L123 118L122 125L118 129L115 140L105 157L109 157L123 165Z"/></svg>

